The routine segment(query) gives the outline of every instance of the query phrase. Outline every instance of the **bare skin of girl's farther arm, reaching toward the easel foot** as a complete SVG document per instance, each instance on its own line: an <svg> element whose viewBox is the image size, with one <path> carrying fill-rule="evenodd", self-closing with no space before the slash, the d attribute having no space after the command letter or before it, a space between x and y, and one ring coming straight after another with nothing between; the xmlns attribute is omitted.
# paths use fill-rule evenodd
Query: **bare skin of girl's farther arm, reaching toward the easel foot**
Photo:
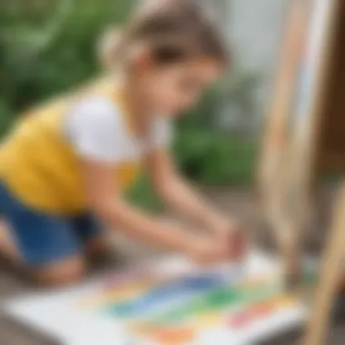
<svg viewBox="0 0 345 345"><path fill-rule="evenodd" d="M155 191L173 209L211 230L221 241L229 239L232 231L237 231L235 222L217 212L191 185L184 182L174 169L170 153L154 150L147 156L147 165Z"/></svg>

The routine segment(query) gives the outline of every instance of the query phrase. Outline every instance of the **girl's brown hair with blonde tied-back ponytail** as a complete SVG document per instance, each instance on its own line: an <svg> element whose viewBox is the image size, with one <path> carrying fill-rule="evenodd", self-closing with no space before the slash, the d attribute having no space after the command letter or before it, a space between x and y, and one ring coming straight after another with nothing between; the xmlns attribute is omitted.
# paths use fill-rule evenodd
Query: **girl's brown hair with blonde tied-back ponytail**
<svg viewBox="0 0 345 345"><path fill-rule="evenodd" d="M113 66L128 56L136 44L149 44L157 64L192 56L229 64L227 44L212 18L193 0L143 1L123 32L110 30L104 36L101 56Z"/></svg>

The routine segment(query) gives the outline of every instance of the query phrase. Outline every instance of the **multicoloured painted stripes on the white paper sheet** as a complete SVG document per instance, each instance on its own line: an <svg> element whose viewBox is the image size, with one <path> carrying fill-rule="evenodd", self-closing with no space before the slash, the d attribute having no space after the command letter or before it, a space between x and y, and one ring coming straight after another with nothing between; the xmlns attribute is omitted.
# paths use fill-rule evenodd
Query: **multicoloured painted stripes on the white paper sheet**
<svg viewBox="0 0 345 345"><path fill-rule="evenodd" d="M236 284L217 272L203 273L147 286L134 283L113 295L114 286L98 311L115 320L128 320L138 337L166 345L191 344L205 328L245 329L272 312L296 307L296 299L283 295L278 281L270 278Z"/></svg>

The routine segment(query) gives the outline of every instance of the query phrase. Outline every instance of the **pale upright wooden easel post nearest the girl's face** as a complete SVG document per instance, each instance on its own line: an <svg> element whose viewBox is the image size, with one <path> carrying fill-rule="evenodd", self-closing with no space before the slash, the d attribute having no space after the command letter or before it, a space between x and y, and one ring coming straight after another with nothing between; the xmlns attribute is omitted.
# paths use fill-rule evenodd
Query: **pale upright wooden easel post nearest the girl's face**
<svg viewBox="0 0 345 345"><path fill-rule="evenodd" d="M297 255L298 239L295 234L301 229L301 217L290 217L286 210L286 191L290 176L287 156L291 151L291 133L289 121L291 104L296 89L296 75L301 67L301 56L306 40L306 23L310 15L307 1L290 2L290 15L286 29L282 34L283 45L278 65L276 83L273 85L273 97L269 119L264 135L261 164L259 167L259 185L262 208L278 243L285 271L291 275L296 266L293 262Z"/></svg>

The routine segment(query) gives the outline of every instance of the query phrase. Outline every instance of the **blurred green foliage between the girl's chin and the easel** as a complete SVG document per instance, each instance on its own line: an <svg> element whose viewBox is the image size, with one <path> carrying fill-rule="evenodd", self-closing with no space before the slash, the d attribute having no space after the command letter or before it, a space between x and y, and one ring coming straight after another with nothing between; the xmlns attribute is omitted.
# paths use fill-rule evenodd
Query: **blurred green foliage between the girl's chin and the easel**
<svg viewBox="0 0 345 345"><path fill-rule="evenodd" d="M251 182L256 144L227 134L182 129L176 153L182 171L192 180L208 185L239 185Z"/></svg>

